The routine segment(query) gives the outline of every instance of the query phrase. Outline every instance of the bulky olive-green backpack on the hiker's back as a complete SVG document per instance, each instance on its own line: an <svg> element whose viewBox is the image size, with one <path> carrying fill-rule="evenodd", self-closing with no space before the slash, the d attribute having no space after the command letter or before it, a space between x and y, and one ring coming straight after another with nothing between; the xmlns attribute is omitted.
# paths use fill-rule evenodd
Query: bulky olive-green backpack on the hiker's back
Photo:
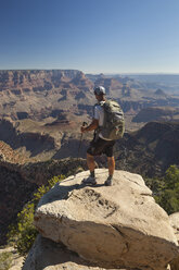
<svg viewBox="0 0 179 270"><path fill-rule="evenodd" d="M122 138L125 132L125 119L120 106L114 100L106 100L100 105L104 109L104 123L100 127L100 133L107 139Z"/></svg>

